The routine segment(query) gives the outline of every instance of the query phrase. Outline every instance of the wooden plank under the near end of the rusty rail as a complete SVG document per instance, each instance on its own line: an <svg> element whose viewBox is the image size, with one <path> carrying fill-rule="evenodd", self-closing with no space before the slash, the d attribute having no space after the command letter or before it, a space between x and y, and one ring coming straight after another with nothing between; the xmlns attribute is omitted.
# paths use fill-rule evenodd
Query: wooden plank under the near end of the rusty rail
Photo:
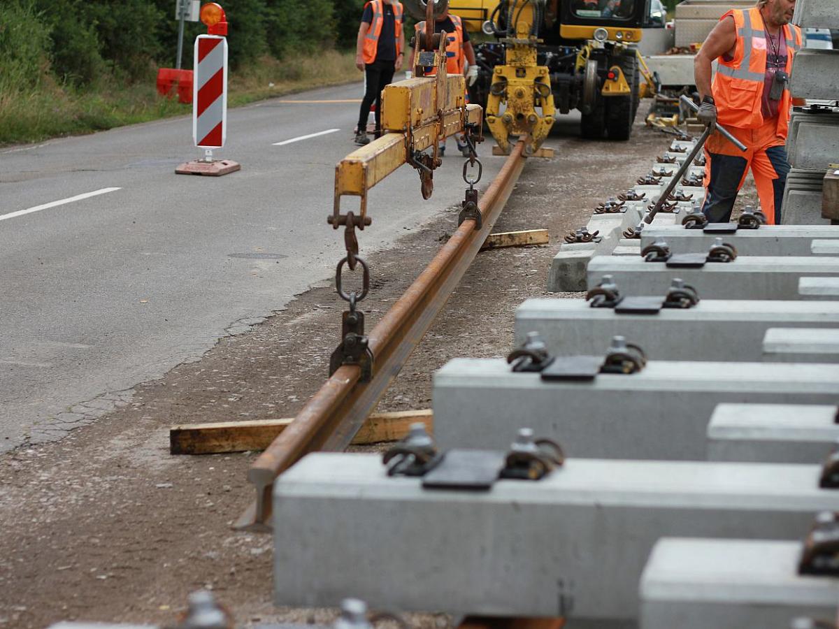
<svg viewBox="0 0 839 629"><path fill-rule="evenodd" d="M256 419L242 422L184 424L169 429L169 454L219 455L228 452L264 450L293 419ZM411 424L422 422L434 431L434 415L430 408L419 411L375 413L352 440L355 445L398 441Z"/></svg>

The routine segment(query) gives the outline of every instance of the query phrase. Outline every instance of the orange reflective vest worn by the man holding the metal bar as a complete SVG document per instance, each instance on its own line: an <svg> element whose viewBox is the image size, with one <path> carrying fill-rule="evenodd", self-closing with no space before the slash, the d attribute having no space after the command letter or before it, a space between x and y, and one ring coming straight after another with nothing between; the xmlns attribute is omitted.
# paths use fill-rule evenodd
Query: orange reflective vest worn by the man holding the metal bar
<svg viewBox="0 0 839 629"><path fill-rule="evenodd" d="M717 122L742 129L757 129L763 125L760 101L763 96L763 78L766 75L766 33L758 8L734 9L729 15L737 28L737 44L731 61L720 57L714 77L714 101L717 104ZM792 24L782 27L787 46L786 71L792 70L792 59L801 48L801 29ZM792 97L784 89L778 108L778 136L786 138L789 128L789 108Z"/></svg>

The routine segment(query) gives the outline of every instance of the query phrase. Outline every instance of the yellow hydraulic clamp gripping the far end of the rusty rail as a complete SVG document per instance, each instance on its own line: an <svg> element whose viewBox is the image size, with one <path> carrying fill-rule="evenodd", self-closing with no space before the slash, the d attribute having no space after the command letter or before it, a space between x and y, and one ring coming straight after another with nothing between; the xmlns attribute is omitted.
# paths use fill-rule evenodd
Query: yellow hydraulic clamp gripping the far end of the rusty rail
<svg viewBox="0 0 839 629"><path fill-rule="evenodd" d="M544 65L536 65L534 23L537 5L544 0L511 0L508 23L513 24L513 37L501 39L505 65L493 70L487 96L487 125L503 153L510 151L510 136L527 136L525 152L533 154L545 142L554 124L554 95L550 75ZM506 105L500 113L501 105ZM541 109L541 113L537 112Z"/></svg>

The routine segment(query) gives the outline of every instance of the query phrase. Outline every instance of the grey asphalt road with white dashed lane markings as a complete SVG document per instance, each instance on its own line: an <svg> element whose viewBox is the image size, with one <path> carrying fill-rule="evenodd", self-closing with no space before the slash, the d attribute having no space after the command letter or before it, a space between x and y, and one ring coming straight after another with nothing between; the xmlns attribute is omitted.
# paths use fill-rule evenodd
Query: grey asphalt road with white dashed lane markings
<svg viewBox="0 0 839 629"><path fill-rule="evenodd" d="M136 384L331 277L343 238L326 216L358 111L334 101L361 89L231 110L216 157L242 170L221 178L175 174L200 156L189 117L0 150L0 451L129 403ZM408 166L373 190L362 252L462 199L453 144L430 200ZM503 164L490 144L482 185Z"/></svg>

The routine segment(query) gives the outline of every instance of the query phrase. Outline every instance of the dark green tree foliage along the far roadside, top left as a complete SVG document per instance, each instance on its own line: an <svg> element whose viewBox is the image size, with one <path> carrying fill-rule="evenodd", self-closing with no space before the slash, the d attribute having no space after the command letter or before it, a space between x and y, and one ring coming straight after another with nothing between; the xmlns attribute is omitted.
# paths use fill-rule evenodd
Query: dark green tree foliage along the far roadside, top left
<svg viewBox="0 0 839 629"><path fill-rule="evenodd" d="M235 69L269 54L316 55L351 48L365 0L218 0L227 13ZM184 67L192 42L206 32L185 24ZM175 0L0 0L0 76L84 86L102 79L148 81L174 67Z"/></svg>

